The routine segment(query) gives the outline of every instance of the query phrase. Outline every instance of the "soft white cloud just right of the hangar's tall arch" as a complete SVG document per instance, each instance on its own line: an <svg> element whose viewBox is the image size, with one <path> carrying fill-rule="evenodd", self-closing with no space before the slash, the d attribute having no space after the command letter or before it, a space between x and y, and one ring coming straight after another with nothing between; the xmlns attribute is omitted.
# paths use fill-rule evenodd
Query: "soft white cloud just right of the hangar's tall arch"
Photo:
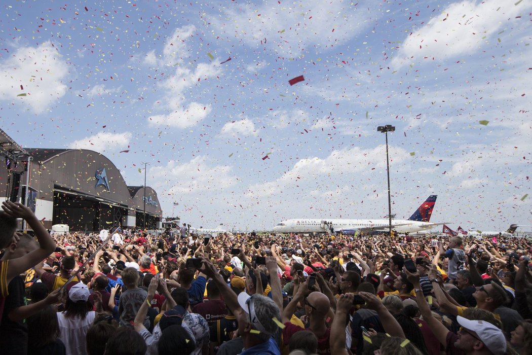
<svg viewBox="0 0 532 355"><path fill-rule="evenodd" d="M159 181L155 185L162 194L179 197L202 191L219 192L236 183L230 166L211 166L206 156L196 156L182 164L171 160L164 167L150 168L149 175Z"/></svg>

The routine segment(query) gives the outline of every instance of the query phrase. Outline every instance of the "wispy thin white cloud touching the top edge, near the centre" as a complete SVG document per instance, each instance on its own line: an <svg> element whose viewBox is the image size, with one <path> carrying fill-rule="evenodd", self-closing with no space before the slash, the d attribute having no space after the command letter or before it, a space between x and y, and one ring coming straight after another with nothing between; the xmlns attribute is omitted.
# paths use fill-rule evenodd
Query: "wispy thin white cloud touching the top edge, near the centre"
<svg viewBox="0 0 532 355"><path fill-rule="evenodd" d="M225 16L216 12L209 20L223 35L242 39L251 47L265 46L279 54L299 56L310 48L328 51L354 38L375 20L377 6L378 3L355 6L354 2L343 0L296 0L289 5L232 3Z"/></svg>

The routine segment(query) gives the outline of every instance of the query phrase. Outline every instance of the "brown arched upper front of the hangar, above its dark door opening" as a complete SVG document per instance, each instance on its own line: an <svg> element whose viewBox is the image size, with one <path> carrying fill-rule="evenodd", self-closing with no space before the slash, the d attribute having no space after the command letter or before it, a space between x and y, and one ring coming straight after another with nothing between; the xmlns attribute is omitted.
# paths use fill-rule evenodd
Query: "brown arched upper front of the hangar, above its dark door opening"
<svg viewBox="0 0 532 355"><path fill-rule="evenodd" d="M105 155L87 149L26 148L33 157L31 187L41 199L53 200L53 191L81 193L131 209L144 209L143 186L127 186L122 174ZM146 212L162 215L157 193L146 187Z"/></svg>

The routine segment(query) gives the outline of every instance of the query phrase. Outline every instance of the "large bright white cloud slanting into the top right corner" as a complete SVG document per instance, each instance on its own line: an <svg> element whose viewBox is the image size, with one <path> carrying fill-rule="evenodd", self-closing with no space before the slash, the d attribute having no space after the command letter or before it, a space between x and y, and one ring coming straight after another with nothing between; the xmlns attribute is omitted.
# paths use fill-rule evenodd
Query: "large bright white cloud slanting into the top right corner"
<svg viewBox="0 0 532 355"><path fill-rule="evenodd" d="M477 51L486 38L499 31L514 17L526 11L532 3L518 5L499 0L477 2L465 0L449 5L442 14L409 35L392 61L401 67L412 60L446 58ZM413 57L413 59L412 59Z"/></svg>

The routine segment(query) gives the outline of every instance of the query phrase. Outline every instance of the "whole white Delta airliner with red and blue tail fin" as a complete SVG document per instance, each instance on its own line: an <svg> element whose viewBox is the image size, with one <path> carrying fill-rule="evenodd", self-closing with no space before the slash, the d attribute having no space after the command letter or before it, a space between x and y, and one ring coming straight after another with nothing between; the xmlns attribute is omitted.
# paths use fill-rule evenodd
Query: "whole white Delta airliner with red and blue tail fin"
<svg viewBox="0 0 532 355"><path fill-rule="evenodd" d="M434 228L443 223L430 223L430 216L437 195L430 195L410 216L409 219L392 219L392 229L396 233L415 233ZM273 227L276 233L337 233L386 232L388 219L288 219Z"/></svg>

